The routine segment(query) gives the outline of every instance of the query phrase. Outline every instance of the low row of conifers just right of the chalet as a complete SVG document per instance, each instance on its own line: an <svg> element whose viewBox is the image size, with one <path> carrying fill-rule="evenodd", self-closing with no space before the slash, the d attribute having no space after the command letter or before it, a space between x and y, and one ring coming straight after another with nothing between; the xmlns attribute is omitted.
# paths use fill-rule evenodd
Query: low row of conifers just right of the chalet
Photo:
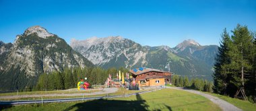
<svg viewBox="0 0 256 111"><path fill-rule="evenodd" d="M194 90L200 90L203 92L213 92L212 88L214 86L212 82L208 82L207 80L199 78L192 78L189 80L187 76L183 77L179 75L172 75L172 85L192 88Z"/></svg>

